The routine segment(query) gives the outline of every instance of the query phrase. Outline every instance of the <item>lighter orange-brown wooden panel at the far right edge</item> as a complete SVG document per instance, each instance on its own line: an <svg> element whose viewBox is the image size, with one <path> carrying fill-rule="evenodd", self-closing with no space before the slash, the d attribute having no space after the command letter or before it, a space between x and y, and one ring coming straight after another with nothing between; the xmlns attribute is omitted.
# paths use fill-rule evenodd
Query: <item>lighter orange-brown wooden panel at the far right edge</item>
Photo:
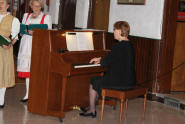
<svg viewBox="0 0 185 124"><path fill-rule="evenodd" d="M185 23L177 22L171 91L185 91Z"/></svg>

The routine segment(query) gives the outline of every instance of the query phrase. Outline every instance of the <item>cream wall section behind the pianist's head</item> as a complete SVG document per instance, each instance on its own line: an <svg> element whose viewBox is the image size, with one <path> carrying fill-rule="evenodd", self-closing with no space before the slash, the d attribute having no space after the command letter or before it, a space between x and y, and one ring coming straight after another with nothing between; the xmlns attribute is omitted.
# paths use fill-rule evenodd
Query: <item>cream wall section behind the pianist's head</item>
<svg viewBox="0 0 185 124"><path fill-rule="evenodd" d="M131 35L161 39L164 0L146 0L145 5L117 4L111 0L109 32L118 20L128 21Z"/></svg>

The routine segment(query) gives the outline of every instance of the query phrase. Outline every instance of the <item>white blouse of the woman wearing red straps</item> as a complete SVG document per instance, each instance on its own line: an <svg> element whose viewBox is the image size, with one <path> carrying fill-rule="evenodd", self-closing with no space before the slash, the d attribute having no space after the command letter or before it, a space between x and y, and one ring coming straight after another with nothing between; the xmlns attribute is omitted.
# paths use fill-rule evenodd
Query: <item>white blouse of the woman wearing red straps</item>
<svg viewBox="0 0 185 124"><path fill-rule="evenodd" d="M31 15L32 15L32 13L31 13L29 15L27 21L26 21L27 15L28 15L28 13L24 14L22 24L27 24L27 25L29 25L29 24L40 24L40 21L42 19L42 16L44 15L44 13L41 12L40 15L37 18L31 18ZM50 15L45 16L44 24L48 25L48 29L52 29L52 21L51 21L51 16Z"/></svg>

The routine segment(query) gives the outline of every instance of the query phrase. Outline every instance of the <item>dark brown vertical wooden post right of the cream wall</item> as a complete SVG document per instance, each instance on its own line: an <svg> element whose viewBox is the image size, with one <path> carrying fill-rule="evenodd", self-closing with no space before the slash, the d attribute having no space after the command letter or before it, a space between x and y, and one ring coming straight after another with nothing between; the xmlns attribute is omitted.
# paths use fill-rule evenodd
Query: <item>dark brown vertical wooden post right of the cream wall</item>
<svg viewBox="0 0 185 124"><path fill-rule="evenodd" d="M157 75L163 75L173 67L174 45L176 37L176 19L177 19L178 1L164 1L164 17L162 26L162 39L160 43L159 61ZM160 93L170 92L172 73L168 73L162 78L156 80L156 89L154 91Z"/></svg>

